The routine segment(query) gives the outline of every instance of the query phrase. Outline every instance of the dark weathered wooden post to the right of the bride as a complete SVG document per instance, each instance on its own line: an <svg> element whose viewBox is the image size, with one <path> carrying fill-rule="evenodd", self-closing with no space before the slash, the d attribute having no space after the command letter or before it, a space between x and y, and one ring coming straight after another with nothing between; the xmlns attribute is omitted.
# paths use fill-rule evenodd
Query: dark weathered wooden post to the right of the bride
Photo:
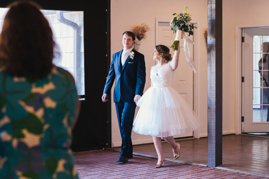
<svg viewBox="0 0 269 179"><path fill-rule="evenodd" d="M207 166L222 165L222 0L207 0Z"/></svg>

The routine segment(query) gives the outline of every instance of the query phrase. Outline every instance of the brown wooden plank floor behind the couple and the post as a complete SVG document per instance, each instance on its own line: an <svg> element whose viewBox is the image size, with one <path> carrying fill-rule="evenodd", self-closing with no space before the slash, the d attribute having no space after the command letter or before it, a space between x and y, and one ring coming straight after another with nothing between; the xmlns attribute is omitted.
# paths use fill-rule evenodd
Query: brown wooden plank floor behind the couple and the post
<svg viewBox="0 0 269 179"><path fill-rule="evenodd" d="M179 163L207 166L207 138L178 140L180 143ZM217 169L269 177L269 138L248 135L224 135L222 139L222 166ZM120 151L120 147L107 148ZM166 160L173 160L172 147L162 143ZM134 145L133 153L139 156L157 158L154 144Z"/></svg>

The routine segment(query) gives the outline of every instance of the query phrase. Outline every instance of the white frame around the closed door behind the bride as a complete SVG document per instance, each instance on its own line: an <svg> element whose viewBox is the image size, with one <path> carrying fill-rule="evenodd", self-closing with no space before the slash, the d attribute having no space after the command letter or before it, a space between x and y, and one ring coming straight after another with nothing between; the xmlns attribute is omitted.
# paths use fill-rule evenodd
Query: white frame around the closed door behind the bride
<svg viewBox="0 0 269 179"><path fill-rule="evenodd" d="M159 22L170 22L171 19L166 18L155 18L155 45L158 45L158 23ZM199 20L192 20L193 24L197 26L197 28L200 27ZM193 74L193 111L195 114L200 118L200 33L197 29L196 30L196 36L193 37L193 61L194 65L197 68L196 73ZM196 131L193 131L193 137L200 138L200 129L198 128Z"/></svg>

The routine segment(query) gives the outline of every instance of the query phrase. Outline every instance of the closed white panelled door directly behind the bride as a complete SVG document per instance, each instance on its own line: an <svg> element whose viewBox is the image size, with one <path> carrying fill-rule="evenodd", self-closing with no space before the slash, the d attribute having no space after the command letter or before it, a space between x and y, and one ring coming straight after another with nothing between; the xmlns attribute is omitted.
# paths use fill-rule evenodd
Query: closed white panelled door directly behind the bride
<svg viewBox="0 0 269 179"><path fill-rule="evenodd" d="M158 44L156 45L166 45L170 49L170 53L172 56L174 55L174 51L170 48L175 40L176 34L173 34L171 30L171 26L168 22L162 21L158 22ZM194 31L195 35L195 31ZM189 37L193 40L193 36ZM184 41L181 39L180 41L180 55L179 55L179 63L178 68L175 71L172 87L178 91L178 93L188 102L188 104L193 108L193 71L192 68L188 65L183 49ZM193 57L193 45L189 45L189 50ZM195 60L195 59L194 59ZM193 136L193 132L187 133L185 135L175 135L174 137L189 137Z"/></svg>

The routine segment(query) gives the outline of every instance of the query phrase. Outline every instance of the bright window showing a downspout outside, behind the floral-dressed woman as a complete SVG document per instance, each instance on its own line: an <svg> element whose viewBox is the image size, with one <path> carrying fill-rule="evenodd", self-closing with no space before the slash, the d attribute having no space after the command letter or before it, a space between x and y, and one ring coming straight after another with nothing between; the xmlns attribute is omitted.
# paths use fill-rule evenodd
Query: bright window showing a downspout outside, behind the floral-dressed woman
<svg viewBox="0 0 269 179"><path fill-rule="evenodd" d="M7 8L0 8L0 32ZM48 19L56 42L54 65L69 71L76 81L77 93L85 94L84 29L82 11L41 10Z"/></svg>

